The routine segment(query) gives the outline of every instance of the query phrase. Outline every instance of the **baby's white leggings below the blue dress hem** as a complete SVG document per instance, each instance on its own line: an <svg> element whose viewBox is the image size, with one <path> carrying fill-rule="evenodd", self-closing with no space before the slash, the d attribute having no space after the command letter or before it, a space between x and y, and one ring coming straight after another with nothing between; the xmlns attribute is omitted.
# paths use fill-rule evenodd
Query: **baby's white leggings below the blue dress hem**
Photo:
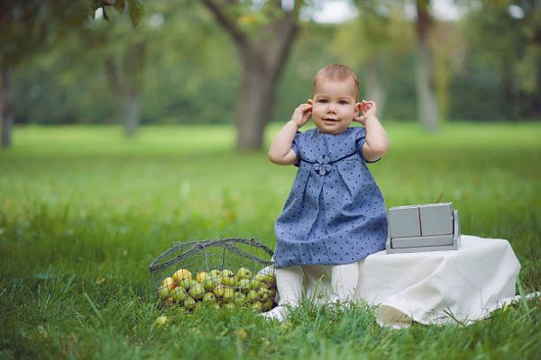
<svg viewBox="0 0 541 360"><path fill-rule="evenodd" d="M302 266L280 267L275 270L280 304L297 305L304 289ZM359 279L359 264L331 266L331 301L351 301Z"/></svg>

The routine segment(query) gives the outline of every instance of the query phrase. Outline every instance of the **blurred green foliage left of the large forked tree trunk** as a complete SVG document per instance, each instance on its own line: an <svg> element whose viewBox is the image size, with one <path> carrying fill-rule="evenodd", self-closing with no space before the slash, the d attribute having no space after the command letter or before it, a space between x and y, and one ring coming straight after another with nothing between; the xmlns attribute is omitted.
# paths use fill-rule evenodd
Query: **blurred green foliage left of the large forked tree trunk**
<svg viewBox="0 0 541 360"><path fill-rule="evenodd" d="M238 81L225 35L201 8L166 1L153 4L137 29L123 17L110 14L115 17L110 22L97 19L84 36L66 39L61 52L52 51L36 59L30 70L24 69L15 89L18 122L120 122L116 104L120 94L113 91L106 76L106 58L118 68L119 86L140 81L130 73L142 76L143 122L167 123L179 113L193 122L229 121L234 113L231 86ZM151 23L156 17L163 22L159 26ZM194 27L199 31L194 32ZM139 71L126 71L129 49L141 41L146 43L147 65ZM88 51L92 56L87 56ZM212 100L215 95L219 96ZM213 107L210 102L215 103Z"/></svg>

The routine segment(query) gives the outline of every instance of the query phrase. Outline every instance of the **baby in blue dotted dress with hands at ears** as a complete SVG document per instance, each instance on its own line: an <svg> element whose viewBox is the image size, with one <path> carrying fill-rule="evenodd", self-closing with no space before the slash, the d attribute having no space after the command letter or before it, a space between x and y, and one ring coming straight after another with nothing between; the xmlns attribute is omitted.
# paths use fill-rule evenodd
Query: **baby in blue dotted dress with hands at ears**
<svg viewBox="0 0 541 360"><path fill-rule="evenodd" d="M332 266L332 301L353 300L357 262L384 249L387 238L385 202L366 166L389 148L376 103L357 102L359 80L342 65L320 69L312 91L269 149L274 164L298 166L275 224L280 305L297 305L302 266L309 265ZM299 132L310 117L316 129ZM350 127L352 121L364 127ZM278 307L266 317L281 320L285 311Z"/></svg>

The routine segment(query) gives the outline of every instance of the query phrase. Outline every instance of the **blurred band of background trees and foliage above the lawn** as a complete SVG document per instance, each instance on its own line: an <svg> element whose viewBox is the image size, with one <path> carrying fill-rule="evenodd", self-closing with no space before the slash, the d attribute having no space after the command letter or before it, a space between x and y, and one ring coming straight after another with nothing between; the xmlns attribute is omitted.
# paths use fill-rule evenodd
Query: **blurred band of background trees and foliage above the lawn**
<svg viewBox="0 0 541 360"><path fill-rule="evenodd" d="M235 123L239 148L261 148L265 125L289 119L330 62L359 74L382 121L541 118L538 1L455 0L463 15L452 20L435 15L438 0L343 1L356 14L344 23L314 20L326 1L142 1L134 29L111 6L92 20L103 2L2 2L3 123L123 124L127 134L140 123ZM424 91L432 107L421 112Z"/></svg>

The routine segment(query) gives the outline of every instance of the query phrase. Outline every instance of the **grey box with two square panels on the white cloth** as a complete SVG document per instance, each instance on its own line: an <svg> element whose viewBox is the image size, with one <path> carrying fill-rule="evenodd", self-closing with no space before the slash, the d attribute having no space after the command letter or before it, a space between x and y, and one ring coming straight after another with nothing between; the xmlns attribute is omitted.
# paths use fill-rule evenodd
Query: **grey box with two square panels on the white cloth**
<svg viewBox="0 0 541 360"><path fill-rule="evenodd" d="M452 202L392 207L388 220L388 254L460 247L458 211Z"/></svg>

